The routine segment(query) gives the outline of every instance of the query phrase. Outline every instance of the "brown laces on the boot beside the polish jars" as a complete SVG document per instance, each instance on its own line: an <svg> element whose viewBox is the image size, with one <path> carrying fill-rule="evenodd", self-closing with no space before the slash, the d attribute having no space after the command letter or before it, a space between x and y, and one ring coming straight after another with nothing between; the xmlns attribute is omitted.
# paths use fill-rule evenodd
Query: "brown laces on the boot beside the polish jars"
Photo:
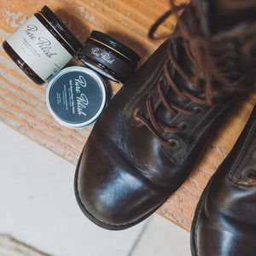
<svg viewBox="0 0 256 256"><path fill-rule="evenodd" d="M236 38L244 38L245 44L255 45L256 42L256 27L250 26L246 30L238 30L225 32L224 34L218 34L218 36L207 36L205 27L203 24L207 24L207 21L204 20L205 16L199 6L199 3L195 1L194 4L181 4L176 5L173 0L171 0L172 9L168 10L164 15L162 15L159 20L154 23L154 26L151 27L148 32L149 38L160 39L160 38L169 38L168 40L168 51L167 51L167 60L164 63L163 71L164 77L160 79L157 90L160 96L162 105L173 114L184 113L188 115L193 115L195 113L201 112L201 108L195 107L193 109L185 109L181 106L177 106L170 102L163 92L162 79L165 79L167 84L171 86L174 93L177 94L180 98L186 101L191 101L198 103L200 105L212 105L212 96L221 96L227 93L235 92L238 90L245 90L245 86L237 86L238 81L232 81L230 79L230 56L228 55L227 49L232 47L232 40ZM178 20L178 14L183 10L186 13L187 22L183 20ZM160 37L155 36L157 28L171 15L175 15L178 22L175 32L170 35L163 35ZM179 39L183 44L184 49L186 50L189 60L197 68L193 76L189 76L183 71L183 68L179 66L175 60L173 54L173 44L172 40ZM189 84L193 84L195 88L205 91L204 97L194 96L188 90L184 90L178 87L178 84L175 84L175 81L172 79L172 75L169 73L168 64L171 62L171 65L177 73L181 75L183 79ZM255 65L255 58L251 60L250 65ZM254 67L254 66L253 66ZM234 67L233 67L234 68ZM201 83L201 78L203 78L204 83ZM218 81L218 84L223 84L222 86L213 86L213 79ZM166 141L162 137L163 132L180 132L187 127L187 123L181 122L179 125L170 126L163 124L158 121L154 116L153 110L153 97L149 96L146 101L146 107L148 112L148 119L143 116L142 111L137 108L134 113L135 119L143 123L148 130L154 134L160 143L176 146L176 139L169 139Z"/></svg>

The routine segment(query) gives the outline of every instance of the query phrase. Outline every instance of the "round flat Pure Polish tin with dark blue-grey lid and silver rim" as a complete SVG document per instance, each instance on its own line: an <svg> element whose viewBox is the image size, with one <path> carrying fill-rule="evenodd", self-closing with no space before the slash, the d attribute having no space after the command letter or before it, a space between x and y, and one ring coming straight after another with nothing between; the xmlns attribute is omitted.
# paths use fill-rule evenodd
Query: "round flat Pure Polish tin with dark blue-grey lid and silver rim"
<svg viewBox="0 0 256 256"><path fill-rule="evenodd" d="M108 102L104 80L87 67L67 67L50 80L46 104L54 119L68 128L92 125Z"/></svg>

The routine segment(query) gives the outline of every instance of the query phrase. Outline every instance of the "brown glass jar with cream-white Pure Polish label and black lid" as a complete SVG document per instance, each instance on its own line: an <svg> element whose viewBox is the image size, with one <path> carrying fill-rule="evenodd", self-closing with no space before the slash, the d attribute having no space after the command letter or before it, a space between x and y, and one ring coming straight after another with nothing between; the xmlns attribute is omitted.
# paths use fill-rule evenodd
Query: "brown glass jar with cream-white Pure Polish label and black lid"
<svg viewBox="0 0 256 256"><path fill-rule="evenodd" d="M47 6L3 42L6 53L37 84L59 72L81 47Z"/></svg>

